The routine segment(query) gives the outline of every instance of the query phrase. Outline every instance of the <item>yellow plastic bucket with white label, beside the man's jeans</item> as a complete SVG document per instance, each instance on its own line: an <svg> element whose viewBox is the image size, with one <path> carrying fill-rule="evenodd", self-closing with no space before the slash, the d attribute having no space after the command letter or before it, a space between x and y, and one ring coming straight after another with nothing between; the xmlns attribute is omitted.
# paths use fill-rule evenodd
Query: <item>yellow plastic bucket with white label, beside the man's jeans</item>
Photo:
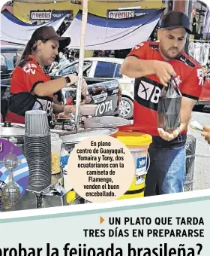
<svg viewBox="0 0 210 256"><path fill-rule="evenodd" d="M135 176L129 189L118 200L144 197L145 175L149 166L148 147L152 142L152 137L136 132L118 132L113 137L127 146L136 166Z"/></svg>

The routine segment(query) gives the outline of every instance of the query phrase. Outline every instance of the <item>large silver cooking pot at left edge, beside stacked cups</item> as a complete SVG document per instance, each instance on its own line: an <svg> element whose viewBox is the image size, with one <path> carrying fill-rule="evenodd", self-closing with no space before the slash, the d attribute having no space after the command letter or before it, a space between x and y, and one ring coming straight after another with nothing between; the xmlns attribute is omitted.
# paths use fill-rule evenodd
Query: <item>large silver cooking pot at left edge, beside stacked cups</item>
<svg viewBox="0 0 210 256"><path fill-rule="evenodd" d="M10 122L1 123L0 125L1 138L16 145L24 154L25 125Z"/></svg>

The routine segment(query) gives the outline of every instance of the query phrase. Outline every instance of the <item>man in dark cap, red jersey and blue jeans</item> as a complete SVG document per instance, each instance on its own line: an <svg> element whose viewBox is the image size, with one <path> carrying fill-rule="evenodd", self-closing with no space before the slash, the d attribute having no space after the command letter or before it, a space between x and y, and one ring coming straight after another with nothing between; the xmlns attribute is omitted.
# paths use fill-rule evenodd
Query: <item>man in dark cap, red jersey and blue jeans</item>
<svg viewBox="0 0 210 256"><path fill-rule="evenodd" d="M189 18L177 11L163 17L159 43L142 42L128 54L121 73L135 79L133 123L152 136L145 197L178 193L184 187L187 125L203 85L202 66L184 53ZM181 125L172 133L157 128L160 92L172 76L182 93Z"/></svg>

